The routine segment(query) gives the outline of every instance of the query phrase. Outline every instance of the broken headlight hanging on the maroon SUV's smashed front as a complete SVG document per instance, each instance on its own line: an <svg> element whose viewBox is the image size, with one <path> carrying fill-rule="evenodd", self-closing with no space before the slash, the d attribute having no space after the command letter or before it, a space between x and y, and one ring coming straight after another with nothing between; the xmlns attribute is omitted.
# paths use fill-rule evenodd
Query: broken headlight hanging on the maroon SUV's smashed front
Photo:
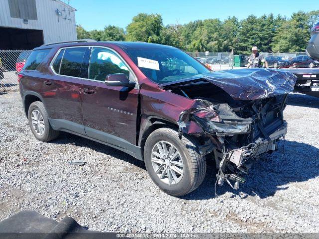
<svg viewBox="0 0 319 239"><path fill-rule="evenodd" d="M203 127L203 129L209 133L216 134L218 136L232 135L232 134L244 134L249 133L251 129L251 121L247 122L232 122L222 121L213 122L199 117L194 117L195 120Z"/></svg>

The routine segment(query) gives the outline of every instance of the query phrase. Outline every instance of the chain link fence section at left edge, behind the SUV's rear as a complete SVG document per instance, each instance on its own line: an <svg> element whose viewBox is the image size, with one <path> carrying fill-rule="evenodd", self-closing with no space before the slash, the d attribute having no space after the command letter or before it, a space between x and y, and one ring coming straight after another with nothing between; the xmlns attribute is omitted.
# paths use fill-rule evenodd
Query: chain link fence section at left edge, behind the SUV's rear
<svg viewBox="0 0 319 239"><path fill-rule="evenodd" d="M17 75L30 53L30 50L0 50L0 92L19 89Z"/></svg>

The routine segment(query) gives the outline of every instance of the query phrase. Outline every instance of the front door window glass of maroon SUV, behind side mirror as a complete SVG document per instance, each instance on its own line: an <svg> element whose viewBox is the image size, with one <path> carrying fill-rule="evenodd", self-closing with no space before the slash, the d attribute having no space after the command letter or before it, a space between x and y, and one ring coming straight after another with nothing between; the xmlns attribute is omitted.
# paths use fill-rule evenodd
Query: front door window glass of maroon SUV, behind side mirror
<svg viewBox="0 0 319 239"><path fill-rule="evenodd" d="M130 71L114 52L104 48L93 48L88 78L104 81L107 75L115 73L124 73L129 77Z"/></svg>

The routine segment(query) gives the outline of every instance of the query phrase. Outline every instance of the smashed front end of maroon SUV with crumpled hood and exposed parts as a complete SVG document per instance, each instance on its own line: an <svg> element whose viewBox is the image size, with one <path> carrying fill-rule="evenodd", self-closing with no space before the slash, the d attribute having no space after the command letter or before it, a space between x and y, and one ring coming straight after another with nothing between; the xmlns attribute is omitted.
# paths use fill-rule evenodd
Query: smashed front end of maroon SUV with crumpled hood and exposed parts
<svg viewBox="0 0 319 239"><path fill-rule="evenodd" d="M277 150L287 132L283 110L296 78L289 73L262 71L242 75L236 82L232 78L231 84L233 72L224 73L220 79L212 73L169 86L171 92L194 100L193 106L179 116L180 135L191 134L204 142L202 153L215 160L218 185L227 182L238 189L251 165L261 155ZM258 87L256 81L268 88Z"/></svg>

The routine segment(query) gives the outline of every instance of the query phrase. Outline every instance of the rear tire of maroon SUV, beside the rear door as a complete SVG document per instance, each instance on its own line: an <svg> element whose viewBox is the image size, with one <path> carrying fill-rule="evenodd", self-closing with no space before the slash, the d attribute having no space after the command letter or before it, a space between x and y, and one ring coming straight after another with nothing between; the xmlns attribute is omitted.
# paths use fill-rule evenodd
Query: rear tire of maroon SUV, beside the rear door
<svg viewBox="0 0 319 239"><path fill-rule="evenodd" d="M60 132L51 127L48 119L48 113L41 101L35 101L30 105L28 119L31 131L38 140L42 142L48 142L56 139L59 136ZM35 121L37 121L37 123L33 123ZM36 124L44 125L44 129L41 126L35 126Z"/></svg>

